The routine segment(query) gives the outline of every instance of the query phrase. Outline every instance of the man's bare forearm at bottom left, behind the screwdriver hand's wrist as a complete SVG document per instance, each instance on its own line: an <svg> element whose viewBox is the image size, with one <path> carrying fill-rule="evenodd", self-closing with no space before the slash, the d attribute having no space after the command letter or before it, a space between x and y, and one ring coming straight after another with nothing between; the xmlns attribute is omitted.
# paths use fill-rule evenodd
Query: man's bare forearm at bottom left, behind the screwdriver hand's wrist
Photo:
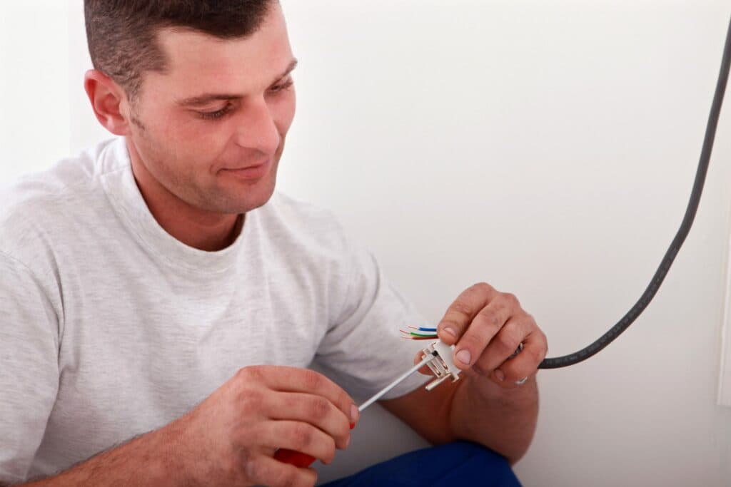
<svg viewBox="0 0 731 487"><path fill-rule="evenodd" d="M171 445L175 445L174 437L174 427L159 429L99 453L58 475L22 485L23 487L185 485L186 480L182 478L185 469L178 464L177 456L171 449Z"/></svg>

